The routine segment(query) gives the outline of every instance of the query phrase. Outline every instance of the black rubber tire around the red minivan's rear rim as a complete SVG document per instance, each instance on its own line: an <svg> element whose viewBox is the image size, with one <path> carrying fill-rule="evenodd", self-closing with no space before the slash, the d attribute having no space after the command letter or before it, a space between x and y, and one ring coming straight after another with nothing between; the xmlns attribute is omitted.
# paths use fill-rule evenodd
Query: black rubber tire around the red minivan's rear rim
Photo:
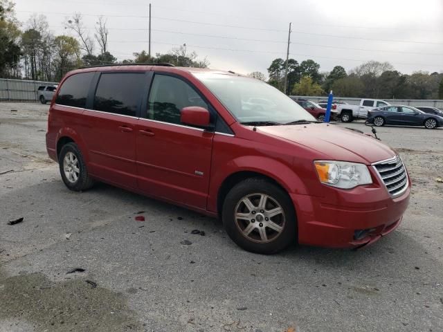
<svg viewBox="0 0 443 332"><path fill-rule="evenodd" d="M77 167L75 169L78 169L78 176L76 176L76 179L73 177L69 179L66 174L64 167L66 166L64 164L64 159L67 157L69 159L69 156L75 156L74 160L77 160ZM88 170L86 167L86 163L84 163L84 158L82 156L82 153L80 152L80 149L78 149L78 146L74 142L69 142L66 145L64 145L60 151L59 157L58 157L58 165L60 168L60 175L62 176L62 180L66 187L68 187L70 190L73 190L75 192L80 192L82 190L88 190L91 188L94 184L93 179L89 176ZM70 166L68 165L68 168ZM74 169L72 166L70 167L72 170ZM74 171L73 171L74 172Z"/></svg>

